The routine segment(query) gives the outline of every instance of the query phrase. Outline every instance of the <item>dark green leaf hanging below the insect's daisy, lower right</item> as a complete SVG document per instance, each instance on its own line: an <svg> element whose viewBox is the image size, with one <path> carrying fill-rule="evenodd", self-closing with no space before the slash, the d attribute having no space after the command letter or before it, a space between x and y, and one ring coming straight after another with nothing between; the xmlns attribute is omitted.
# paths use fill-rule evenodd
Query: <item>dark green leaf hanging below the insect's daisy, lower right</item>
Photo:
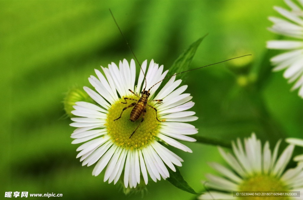
<svg viewBox="0 0 303 200"><path fill-rule="evenodd" d="M169 178L167 179L171 184L175 185L177 188L184 190L185 192L189 192L194 195L200 195L201 193L195 192L191 186L183 179L179 169L176 167L176 172L172 171L168 168Z"/></svg>

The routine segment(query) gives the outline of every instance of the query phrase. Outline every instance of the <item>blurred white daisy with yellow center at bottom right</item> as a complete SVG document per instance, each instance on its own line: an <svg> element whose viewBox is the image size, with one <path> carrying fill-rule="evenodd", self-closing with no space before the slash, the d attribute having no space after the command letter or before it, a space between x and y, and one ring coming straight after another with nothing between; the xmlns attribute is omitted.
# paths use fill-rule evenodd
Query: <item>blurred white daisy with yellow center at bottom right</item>
<svg viewBox="0 0 303 200"><path fill-rule="evenodd" d="M294 145L288 145L277 159L280 143L281 140L271 153L269 142L265 142L262 150L261 141L252 134L250 138L244 139L244 148L239 138L237 144L232 142L234 155L218 147L229 167L218 163L210 164L221 176L208 174L205 185L217 191L205 192L199 196L199 199L246 199L233 197L233 191L301 191L302 194L303 165L284 172L291 159ZM249 199L260 199L260 197L249 197ZM303 199L303 197L301 195L301 198L295 199Z"/></svg>

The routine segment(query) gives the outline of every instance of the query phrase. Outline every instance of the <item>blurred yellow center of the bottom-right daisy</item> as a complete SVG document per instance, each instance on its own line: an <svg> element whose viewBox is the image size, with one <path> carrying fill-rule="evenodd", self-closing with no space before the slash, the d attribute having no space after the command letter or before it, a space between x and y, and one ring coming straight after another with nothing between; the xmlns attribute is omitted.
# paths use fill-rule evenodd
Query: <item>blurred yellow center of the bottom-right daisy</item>
<svg viewBox="0 0 303 200"><path fill-rule="evenodd" d="M259 191L271 191L271 192L282 192L288 191L286 186L277 178L268 176L265 174L256 175L245 179L243 183L239 186L240 191L242 192L259 192ZM289 197L239 197L241 200L287 200Z"/></svg>

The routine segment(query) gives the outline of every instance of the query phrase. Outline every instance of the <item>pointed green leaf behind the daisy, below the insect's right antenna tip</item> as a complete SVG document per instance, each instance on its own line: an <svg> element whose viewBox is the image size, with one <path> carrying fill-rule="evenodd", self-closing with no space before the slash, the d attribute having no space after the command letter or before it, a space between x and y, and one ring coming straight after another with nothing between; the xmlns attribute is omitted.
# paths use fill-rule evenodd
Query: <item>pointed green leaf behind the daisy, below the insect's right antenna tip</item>
<svg viewBox="0 0 303 200"><path fill-rule="evenodd" d="M197 41L192 43L172 64L172 66L169 68L169 72L167 76L172 76L175 73L180 73L183 71L186 71L189 69L189 65L195 56L196 50L199 47L201 41L207 36L207 34L201 38L199 38ZM183 79L185 74L179 75L180 79Z"/></svg>

